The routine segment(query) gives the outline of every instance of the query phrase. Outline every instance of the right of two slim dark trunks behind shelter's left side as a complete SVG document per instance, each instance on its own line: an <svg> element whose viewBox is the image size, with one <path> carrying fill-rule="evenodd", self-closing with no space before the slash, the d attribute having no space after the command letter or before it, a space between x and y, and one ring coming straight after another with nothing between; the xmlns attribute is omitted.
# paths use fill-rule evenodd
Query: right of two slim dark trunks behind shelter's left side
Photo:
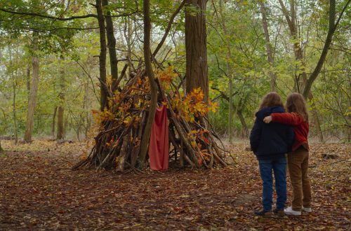
<svg viewBox="0 0 351 231"><path fill-rule="evenodd" d="M108 0L102 0L102 6L107 6L107 5L108 5ZM110 10L107 10L106 12L105 21L106 21L107 47L109 48L109 55L110 55L112 83L114 83L114 81L118 79L118 67L117 67L117 54L116 54L116 38L114 38L114 29L113 29L113 22L112 22Z"/></svg>

